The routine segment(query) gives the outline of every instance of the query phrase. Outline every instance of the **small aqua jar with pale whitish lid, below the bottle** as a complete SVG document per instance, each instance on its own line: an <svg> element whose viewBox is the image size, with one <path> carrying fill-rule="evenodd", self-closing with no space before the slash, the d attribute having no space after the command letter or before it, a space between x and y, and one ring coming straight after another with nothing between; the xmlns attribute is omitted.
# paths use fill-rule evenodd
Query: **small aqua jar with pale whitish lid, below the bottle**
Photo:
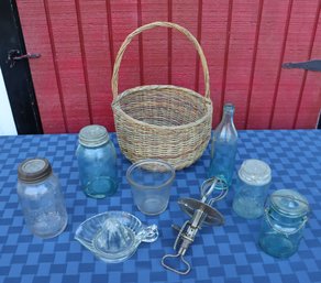
<svg viewBox="0 0 321 283"><path fill-rule="evenodd" d="M244 161L239 170L233 210L247 219L261 217L270 179L270 167L265 162Z"/></svg>

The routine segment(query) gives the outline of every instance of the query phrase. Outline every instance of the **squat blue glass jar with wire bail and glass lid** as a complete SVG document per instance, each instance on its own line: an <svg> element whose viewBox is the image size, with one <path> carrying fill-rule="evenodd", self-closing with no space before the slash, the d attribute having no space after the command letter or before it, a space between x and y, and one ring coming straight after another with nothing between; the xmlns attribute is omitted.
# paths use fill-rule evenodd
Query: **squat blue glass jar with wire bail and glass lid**
<svg viewBox="0 0 321 283"><path fill-rule="evenodd" d="M268 254L288 258L299 247L308 220L309 204L306 197L292 189L272 194L265 209L258 243Z"/></svg>

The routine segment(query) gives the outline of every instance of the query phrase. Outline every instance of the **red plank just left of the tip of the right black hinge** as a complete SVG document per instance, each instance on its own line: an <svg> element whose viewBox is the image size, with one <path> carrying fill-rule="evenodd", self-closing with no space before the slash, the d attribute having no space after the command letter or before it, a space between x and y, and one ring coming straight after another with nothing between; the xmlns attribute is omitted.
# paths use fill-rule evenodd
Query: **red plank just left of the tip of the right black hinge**
<svg viewBox="0 0 321 283"><path fill-rule="evenodd" d="M267 129L286 33L289 1L264 1L247 129Z"/></svg>

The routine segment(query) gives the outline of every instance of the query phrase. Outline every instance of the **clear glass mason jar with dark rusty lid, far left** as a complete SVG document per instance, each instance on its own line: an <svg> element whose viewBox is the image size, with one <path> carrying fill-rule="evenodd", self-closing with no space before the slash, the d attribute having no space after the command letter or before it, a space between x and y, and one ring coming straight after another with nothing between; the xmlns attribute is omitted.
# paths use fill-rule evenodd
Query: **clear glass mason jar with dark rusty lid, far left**
<svg viewBox="0 0 321 283"><path fill-rule="evenodd" d="M67 211L59 179L46 159L29 159L18 168L16 192L31 232L53 238L67 226Z"/></svg>

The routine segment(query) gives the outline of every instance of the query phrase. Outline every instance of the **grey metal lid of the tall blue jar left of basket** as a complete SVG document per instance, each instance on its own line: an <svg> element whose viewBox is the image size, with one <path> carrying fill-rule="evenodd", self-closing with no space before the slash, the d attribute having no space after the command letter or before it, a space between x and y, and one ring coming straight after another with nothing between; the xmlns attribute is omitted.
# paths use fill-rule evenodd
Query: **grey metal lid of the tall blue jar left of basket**
<svg viewBox="0 0 321 283"><path fill-rule="evenodd" d="M108 141L109 134L103 126L86 126L79 132L79 143L88 148L100 146Z"/></svg>

